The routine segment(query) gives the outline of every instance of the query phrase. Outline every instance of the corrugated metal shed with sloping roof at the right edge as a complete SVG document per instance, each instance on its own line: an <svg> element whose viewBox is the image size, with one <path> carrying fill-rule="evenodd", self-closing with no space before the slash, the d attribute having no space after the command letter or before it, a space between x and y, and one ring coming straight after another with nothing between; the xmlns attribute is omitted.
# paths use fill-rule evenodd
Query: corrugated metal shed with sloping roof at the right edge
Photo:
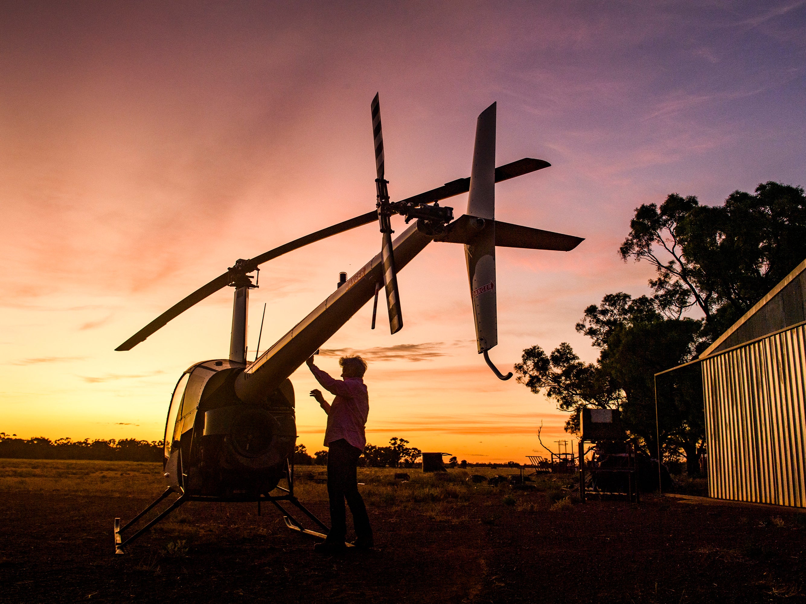
<svg viewBox="0 0 806 604"><path fill-rule="evenodd" d="M655 374L657 425L658 378L700 365L709 497L806 507L804 319L806 260L698 358Z"/></svg>

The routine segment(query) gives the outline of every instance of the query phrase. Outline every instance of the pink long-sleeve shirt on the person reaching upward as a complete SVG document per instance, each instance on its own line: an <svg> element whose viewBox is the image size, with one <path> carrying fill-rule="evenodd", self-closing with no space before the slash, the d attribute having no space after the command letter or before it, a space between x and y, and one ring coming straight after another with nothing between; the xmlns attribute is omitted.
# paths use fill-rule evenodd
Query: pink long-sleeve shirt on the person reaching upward
<svg viewBox="0 0 806 604"><path fill-rule="evenodd" d="M369 415L369 394L364 380L360 377L336 380L316 365L311 365L310 370L322 388L336 395L327 414L325 446L334 440L345 439L353 447L364 451L367 444L364 426Z"/></svg>

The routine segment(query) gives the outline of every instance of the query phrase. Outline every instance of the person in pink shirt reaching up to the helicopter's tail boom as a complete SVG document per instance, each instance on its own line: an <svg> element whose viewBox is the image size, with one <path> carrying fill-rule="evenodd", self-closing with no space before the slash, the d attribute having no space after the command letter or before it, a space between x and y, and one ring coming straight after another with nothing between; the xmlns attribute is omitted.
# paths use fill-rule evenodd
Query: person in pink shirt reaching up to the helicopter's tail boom
<svg viewBox="0 0 806 604"><path fill-rule="evenodd" d="M356 548L372 548L372 527L369 526L367 507L358 491L356 468L358 459L364 452L367 437L364 426L369 414L369 394L364 384L367 363L360 356L343 356L339 359L343 380L336 380L314 364L314 357L307 361L311 373L317 381L336 398L329 403L322 391L314 389L310 395L327 414L325 446L327 453L327 496L330 500L330 532L315 550L323 553L343 551L347 546L347 510L344 500L353 517Z"/></svg>

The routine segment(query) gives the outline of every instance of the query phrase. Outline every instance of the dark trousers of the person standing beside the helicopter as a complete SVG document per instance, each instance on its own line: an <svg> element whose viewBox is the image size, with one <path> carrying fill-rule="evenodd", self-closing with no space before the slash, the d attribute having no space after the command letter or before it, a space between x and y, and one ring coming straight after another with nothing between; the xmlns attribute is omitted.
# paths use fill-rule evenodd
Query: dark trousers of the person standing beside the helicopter
<svg viewBox="0 0 806 604"><path fill-rule="evenodd" d="M328 444L327 452L327 496L330 499L330 532L328 541L341 541L347 535L347 510L344 500L350 506L353 516L355 536L359 539L371 539L372 528L369 526L367 507L358 492L358 479L355 469L361 449L353 447L345 439L334 440Z"/></svg>

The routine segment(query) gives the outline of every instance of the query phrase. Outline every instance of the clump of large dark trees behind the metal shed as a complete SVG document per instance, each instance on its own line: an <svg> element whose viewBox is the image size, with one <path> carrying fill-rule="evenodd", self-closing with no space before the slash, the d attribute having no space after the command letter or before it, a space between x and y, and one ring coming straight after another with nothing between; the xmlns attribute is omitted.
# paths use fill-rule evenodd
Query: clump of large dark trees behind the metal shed
<svg viewBox="0 0 806 604"><path fill-rule="evenodd" d="M620 409L646 452L660 448L665 460L677 460L682 451L688 473L698 473L705 445L699 366L659 381L659 436L654 374L696 358L806 258L804 190L767 182L717 206L671 194L660 206L636 208L629 227L618 253L654 267L651 294L607 294L584 310L576 331L599 351L595 363L567 343L550 354L533 346L515 366L517 380L570 413L566 431L579 433L584 406Z"/></svg>

